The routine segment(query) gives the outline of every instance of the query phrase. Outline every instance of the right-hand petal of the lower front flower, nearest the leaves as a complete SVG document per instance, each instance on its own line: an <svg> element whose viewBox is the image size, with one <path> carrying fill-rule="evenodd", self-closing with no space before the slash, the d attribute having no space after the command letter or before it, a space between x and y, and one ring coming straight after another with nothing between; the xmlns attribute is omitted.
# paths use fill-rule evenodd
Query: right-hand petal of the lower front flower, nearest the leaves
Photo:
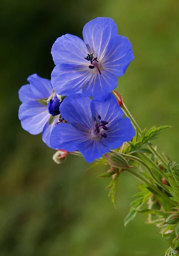
<svg viewBox="0 0 179 256"><path fill-rule="evenodd" d="M105 131L105 133L108 136L103 141L105 142L105 145L111 149L116 149L119 148L125 141L130 141L135 135L135 130L131 124L131 120L128 117L124 117Z"/></svg>

